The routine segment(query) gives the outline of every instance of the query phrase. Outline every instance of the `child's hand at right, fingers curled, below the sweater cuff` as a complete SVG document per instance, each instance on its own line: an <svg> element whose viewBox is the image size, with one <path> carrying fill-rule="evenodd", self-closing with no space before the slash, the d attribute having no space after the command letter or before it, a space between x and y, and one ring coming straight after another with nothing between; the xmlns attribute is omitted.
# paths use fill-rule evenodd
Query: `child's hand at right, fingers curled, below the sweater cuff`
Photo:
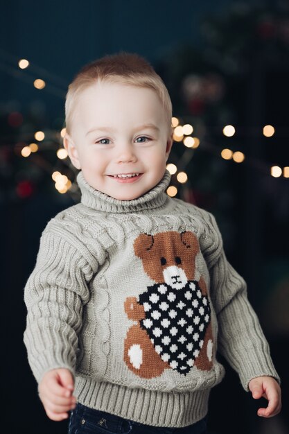
<svg viewBox="0 0 289 434"><path fill-rule="evenodd" d="M268 400L267 408L259 408L258 415L262 417L273 417L281 410L281 389L272 376L258 376L249 382L249 390L254 399L261 397Z"/></svg>

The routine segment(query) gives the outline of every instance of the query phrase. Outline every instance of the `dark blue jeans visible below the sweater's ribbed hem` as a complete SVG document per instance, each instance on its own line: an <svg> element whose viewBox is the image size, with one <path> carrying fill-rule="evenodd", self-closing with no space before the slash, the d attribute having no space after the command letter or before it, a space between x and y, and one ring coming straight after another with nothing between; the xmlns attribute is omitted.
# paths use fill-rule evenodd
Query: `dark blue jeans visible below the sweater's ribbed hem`
<svg viewBox="0 0 289 434"><path fill-rule="evenodd" d="M205 434L205 419L183 428L151 426L123 419L100 410L77 403L69 419L69 434Z"/></svg>

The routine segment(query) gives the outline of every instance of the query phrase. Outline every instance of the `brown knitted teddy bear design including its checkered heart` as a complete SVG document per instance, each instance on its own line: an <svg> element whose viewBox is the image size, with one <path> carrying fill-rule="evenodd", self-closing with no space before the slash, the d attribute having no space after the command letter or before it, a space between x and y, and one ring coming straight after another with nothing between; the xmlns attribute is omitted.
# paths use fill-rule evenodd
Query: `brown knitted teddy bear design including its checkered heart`
<svg viewBox="0 0 289 434"><path fill-rule="evenodd" d="M128 318L138 322L128 329L124 361L142 378L165 369L186 375L193 366L209 371L213 365L207 287L195 270L199 251L198 239L189 231L140 234L134 240L134 253L156 282L124 303Z"/></svg>

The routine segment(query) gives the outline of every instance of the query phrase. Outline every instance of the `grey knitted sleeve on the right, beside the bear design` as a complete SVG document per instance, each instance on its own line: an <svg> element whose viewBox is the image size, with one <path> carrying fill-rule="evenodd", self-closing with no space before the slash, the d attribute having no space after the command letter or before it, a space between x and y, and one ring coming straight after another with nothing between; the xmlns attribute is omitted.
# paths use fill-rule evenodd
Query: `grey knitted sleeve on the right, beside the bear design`
<svg viewBox="0 0 289 434"><path fill-rule="evenodd" d="M268 342L247 299L245 280L227 261L216 219L212 214L210 218L214 241L209 272L211 300L218 318L218 351L238 372L245 390L257 376L273 376L280 382Z"/></svg>

